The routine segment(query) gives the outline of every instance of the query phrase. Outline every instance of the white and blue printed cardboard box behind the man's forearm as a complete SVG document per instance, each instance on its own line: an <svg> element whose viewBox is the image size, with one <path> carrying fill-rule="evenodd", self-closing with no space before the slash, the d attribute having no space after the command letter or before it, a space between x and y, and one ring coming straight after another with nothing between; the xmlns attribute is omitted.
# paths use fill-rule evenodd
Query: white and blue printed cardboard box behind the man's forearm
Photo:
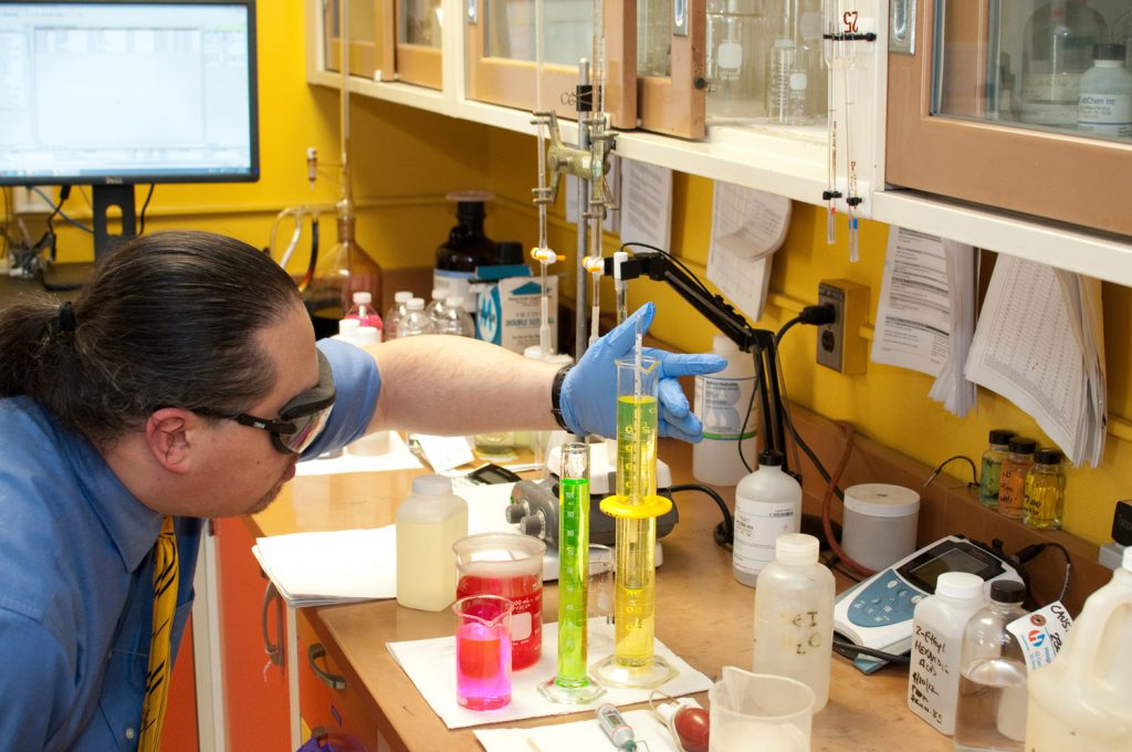
<svg viewBox="0 0 1132 752"><path fill-rule="evenodd" d="M539 343L542 284L537 276L508 276L480 282L475 305L475 336L522 354ZM550 343L558 349L558 277L547 277L550 292Z"/></svg>

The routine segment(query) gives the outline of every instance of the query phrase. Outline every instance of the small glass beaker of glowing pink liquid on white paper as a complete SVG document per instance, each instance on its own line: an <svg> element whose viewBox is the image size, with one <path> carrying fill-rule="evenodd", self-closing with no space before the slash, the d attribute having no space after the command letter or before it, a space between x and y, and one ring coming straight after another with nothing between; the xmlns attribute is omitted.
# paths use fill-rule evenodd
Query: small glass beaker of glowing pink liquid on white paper
<svg viewBox="0 0 1132 752"><path fill-rule="evenodd" d="M471 710L511 702L511 600L469 596L452 605L456 623L456 701Z"/></svg>

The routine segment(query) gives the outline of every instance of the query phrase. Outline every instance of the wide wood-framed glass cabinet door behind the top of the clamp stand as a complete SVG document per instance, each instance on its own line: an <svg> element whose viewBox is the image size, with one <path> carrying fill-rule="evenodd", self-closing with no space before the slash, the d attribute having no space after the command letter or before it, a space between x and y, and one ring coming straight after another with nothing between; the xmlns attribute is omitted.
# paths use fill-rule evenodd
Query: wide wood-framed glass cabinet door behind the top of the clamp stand
<svg viewBox="0 0 1132 752"><path fill-rule="evenodd" d="M538 76L535 0L464 0L469 99L575 118L578 61L592 61L593 0L542 0L542 76ZM617 128L636 125L636 91L626 85L624 14L633 3L604 2L604 110ZM632 79L629 79L632 82ZM539 101L541 99L541 101Z"/></svg>

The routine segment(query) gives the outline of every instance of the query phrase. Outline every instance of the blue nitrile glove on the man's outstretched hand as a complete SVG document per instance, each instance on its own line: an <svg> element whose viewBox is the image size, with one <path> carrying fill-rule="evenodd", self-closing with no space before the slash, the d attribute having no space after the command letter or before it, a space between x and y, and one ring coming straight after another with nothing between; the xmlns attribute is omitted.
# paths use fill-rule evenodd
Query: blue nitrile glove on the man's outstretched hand
<svg viewBox="0 0 1132 752"><path fill-rule="evenodd" d="M617 437L617 360L628 358L636 344L637 321L649 331L657 307L651 302L638 308L620 326L585 351L582 360L566 374L560 407L563 419L575 434ZM643 354L660 361L660 415L658 434L696 443L703 438L703 424L692 415L679 376L714 374L727 360L714 354L677 354L645 348Z"/></svg>

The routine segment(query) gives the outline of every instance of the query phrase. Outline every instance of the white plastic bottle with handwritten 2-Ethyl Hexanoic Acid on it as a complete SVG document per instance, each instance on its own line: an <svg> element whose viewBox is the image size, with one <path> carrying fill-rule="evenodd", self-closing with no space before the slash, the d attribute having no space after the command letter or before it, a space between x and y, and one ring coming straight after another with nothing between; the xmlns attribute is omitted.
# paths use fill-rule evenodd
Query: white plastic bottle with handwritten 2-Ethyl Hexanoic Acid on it
<svg viewBox="0 0 1132 752"><path fill-rule="evenodd" d="M985 605L983 578L944 572L935 582L935 595L912 612L908 709L947 736L955 733L963 629Z"/></svg>

